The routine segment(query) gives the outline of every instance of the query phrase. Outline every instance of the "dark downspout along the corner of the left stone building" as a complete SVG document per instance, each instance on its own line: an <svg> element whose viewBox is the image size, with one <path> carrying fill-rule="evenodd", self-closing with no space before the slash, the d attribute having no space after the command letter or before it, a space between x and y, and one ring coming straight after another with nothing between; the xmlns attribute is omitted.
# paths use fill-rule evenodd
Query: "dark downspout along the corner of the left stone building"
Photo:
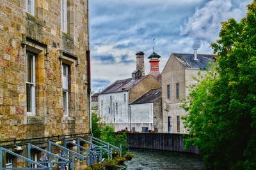
<svg viewBox="0 0 256 170"><path fill-rule="evenodd" d="M90 110L90 133L92 134L92 108L91 108L91 61L90 61L90 20L89 20L89 0L87 0L87 46L86 57L87 57L87 94L89 96L89 110Z"/></svg>

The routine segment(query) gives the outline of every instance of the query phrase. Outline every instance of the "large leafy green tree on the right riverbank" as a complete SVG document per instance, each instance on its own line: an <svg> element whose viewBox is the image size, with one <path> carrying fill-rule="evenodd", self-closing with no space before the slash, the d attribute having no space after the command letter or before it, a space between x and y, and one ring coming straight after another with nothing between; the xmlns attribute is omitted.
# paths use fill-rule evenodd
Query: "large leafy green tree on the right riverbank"
<svg viewBox="0 0 256 170"><path fill-rule="evenodd" d="M193 87L184 106L186 145L198 146L212 169L256 169L256 1L240 22L221 24L212 44L218 66Z"/></svg>

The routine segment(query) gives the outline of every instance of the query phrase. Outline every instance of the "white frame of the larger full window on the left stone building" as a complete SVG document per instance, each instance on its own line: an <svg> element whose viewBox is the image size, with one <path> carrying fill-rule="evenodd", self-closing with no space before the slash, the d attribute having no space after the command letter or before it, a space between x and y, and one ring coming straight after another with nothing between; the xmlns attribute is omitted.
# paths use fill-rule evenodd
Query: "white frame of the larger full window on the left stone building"
<svg viewBox="0 0 256 170"><path fill-rule="evenodd" d="M31 55L33 57L32 59L32 79L33 83L28 82L28 55ZM26 52L26 84L31 85L31 111L27 110L27 115L36 115L36 64L35 64L35 54L31 52ZM28 93L27 93L28 95ZM27 104L28 104L28 100Z"/></svg>

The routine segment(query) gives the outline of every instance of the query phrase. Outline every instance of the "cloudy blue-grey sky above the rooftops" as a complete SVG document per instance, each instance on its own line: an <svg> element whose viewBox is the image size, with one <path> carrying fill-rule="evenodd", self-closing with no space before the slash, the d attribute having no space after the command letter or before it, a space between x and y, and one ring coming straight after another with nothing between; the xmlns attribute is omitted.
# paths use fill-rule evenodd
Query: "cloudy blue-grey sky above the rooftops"
<svg viewBox="0 0 256 170"><path fill-rule="evenodd" d="M163 70L171 53L212 53L221 22L246 16L252 0L91 0L90 50L92 90L130 78L138 51L153 52ZM154 41L153 41L154 39Z"/></svg>

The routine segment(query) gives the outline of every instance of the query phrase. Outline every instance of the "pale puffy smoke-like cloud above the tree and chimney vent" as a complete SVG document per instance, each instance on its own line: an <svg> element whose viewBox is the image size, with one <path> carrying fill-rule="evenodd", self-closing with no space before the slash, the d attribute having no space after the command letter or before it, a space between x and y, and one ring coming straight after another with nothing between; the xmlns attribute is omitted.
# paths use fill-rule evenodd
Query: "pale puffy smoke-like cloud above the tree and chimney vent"
<svg viewBox="0 0 256 170"><path fill-rule="evenodd" d="M250 1L252 2L252 0ZM241 20L246 14L246 4L243 0L211 0L200 8L180 26L180 35L194 39L193 48L199 48L201 41L213 43L218 39L221 24L228 18Z"/></svg>

